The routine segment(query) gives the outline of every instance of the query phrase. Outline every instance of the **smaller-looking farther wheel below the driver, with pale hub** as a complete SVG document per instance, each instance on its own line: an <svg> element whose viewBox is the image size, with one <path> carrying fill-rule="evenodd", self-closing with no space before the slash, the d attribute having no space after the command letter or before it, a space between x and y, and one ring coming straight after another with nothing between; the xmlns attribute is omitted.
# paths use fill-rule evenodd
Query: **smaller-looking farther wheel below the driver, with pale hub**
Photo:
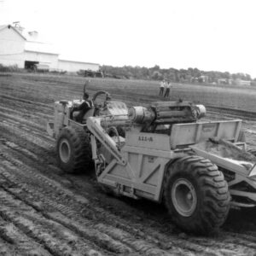
<svg viewBox="0 0 256 256"><path fill-rule="evenodd" d="M64 172L76 173L90 167L90 136L79 127L65 127L57 138L58 165Z"/></svg>

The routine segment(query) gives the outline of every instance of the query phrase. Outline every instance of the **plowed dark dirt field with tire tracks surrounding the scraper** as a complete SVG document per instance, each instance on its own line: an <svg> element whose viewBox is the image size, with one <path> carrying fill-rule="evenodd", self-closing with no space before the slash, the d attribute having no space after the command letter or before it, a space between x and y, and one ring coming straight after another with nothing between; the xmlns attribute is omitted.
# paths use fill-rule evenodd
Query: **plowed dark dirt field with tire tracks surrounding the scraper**
<svg viewBox="0 0 256 256"><path fill-rule="evenodd" d="M110 90L131 105L160 100L156 83L144 92L132 87L143 82L125 83L92 79L88 90ZM83 84L83 78L68 76L0 76L0 255L256 255L255 208L231 210L215 236L193 236L172 224L161 205L105 195L93 168L75 176L63 173L46 123L53 118L54 101L80 98ZM192 100L213 105L213 96L206 89L203 97L201 90L193 88ZM172 97L181 91L189 99L189 86L174 86ZM253 93L247 93L242 106L239 93L237 103L230 102L255 108ZM230 117L207 117L223 118ZM244 125L249 146L256 147L256 122L247 119Z"/></svg>

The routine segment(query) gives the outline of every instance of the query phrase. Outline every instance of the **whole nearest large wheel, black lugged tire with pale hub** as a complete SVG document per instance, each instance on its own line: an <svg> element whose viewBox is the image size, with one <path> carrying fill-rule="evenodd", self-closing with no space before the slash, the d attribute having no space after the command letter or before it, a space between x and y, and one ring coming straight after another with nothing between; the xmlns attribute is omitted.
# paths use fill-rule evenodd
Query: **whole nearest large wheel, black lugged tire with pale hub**
<svg viewBox="0 0 256 256"><path fill-rule="evenodd" d="M230 193L218 167L199 156L183 157L166 172L166 207L181 229L206 235L224 224Z"/></svg>

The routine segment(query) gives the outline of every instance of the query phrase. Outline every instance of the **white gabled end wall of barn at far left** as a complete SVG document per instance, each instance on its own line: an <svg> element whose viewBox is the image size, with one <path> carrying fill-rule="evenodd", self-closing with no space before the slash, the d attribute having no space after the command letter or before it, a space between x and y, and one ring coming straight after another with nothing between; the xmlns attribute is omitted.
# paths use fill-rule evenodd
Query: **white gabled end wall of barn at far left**
<svg viewBox="0 0 256 256"><path fill-rule="evenodd" d="M0 64L4 66L18 65L24 67L23 52L25 38L9 26L0 31Z"/></svg>

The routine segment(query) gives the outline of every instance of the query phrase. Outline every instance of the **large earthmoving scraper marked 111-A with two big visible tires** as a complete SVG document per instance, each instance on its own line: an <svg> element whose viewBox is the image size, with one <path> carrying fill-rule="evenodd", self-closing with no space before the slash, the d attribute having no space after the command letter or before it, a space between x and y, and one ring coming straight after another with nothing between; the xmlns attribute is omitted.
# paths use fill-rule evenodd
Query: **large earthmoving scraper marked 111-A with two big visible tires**
<svg viewBox="0 0 256 256"><path fill-rule="evenodd" d="M241 120L197 122L206 109L190 102L127 111L125 103L107 101L98 116L78 124L69 119L70 108L55 102L54 135L65 171L77 171L81 162L86 167L92 157L103 188L164 201L179 227L199 234L218 229L230 205L256 205L256 160L238 141Z"/></svg>

